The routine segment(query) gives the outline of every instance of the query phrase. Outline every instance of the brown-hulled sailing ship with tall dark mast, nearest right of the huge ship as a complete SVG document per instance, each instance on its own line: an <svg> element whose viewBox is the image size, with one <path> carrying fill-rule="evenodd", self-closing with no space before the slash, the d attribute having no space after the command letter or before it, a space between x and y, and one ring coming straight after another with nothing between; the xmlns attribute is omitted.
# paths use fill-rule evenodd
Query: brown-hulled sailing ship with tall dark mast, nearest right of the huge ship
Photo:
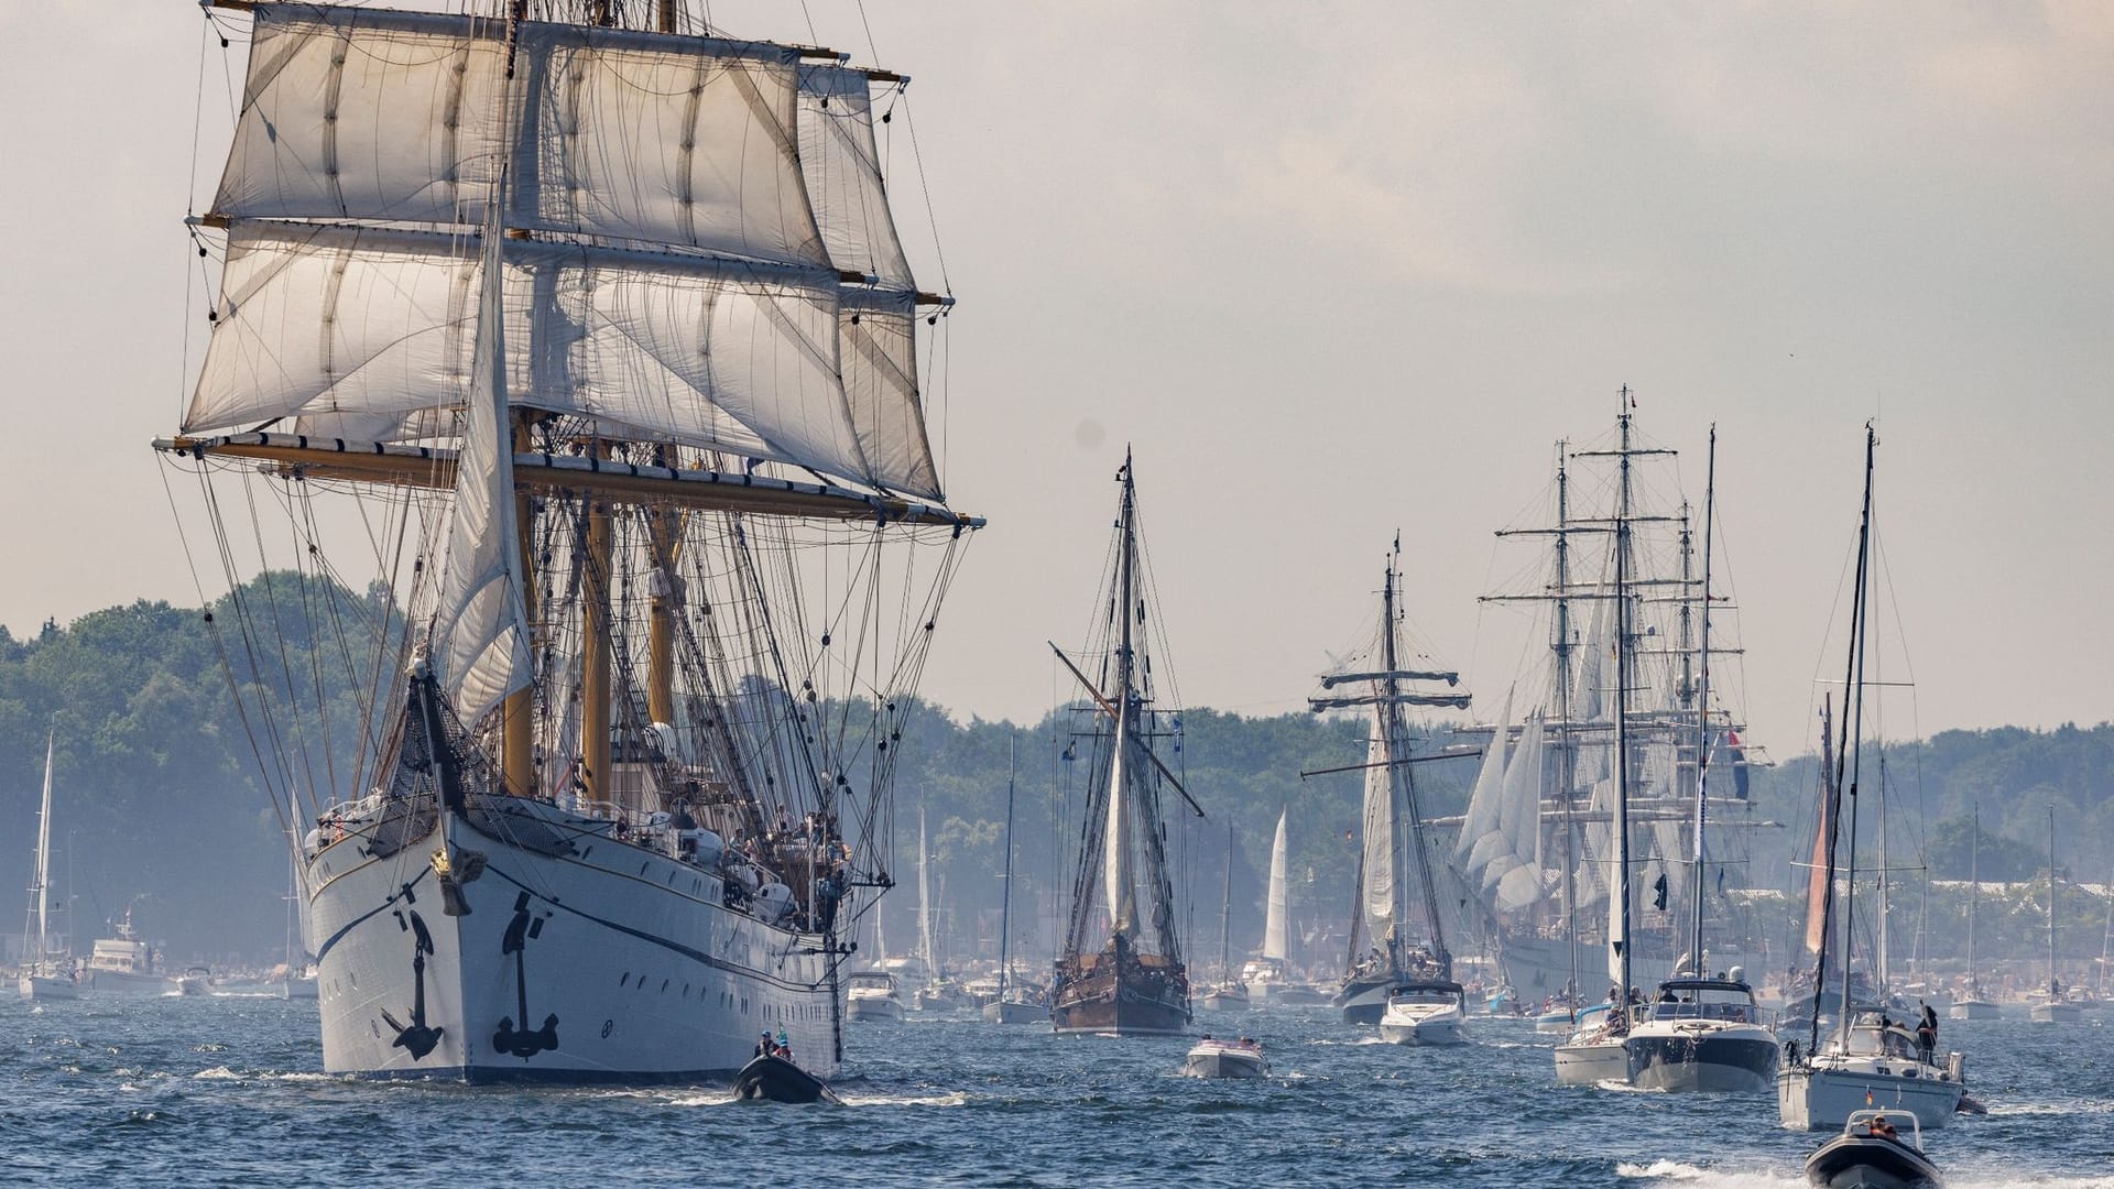
<svg viewBox="0 0 2114 1189"><path fill-rule="evenodd" d="M1137 470L1129 455L1116 484L1116 559L1099 601L1108 618L1089 641L1101 645L1095 650L1101 654L1099 677L1089 677L1051 645L1095 715L1084 844L1072 876L1063 952L1051 982L1051 1024L1059 1032L1173 1035L1190 1022L1190 980L1175 931L1163 793L1180 793L1197 817L1203 808L1154 751L1154 740L1171 734L1161 728L1163 719L1169 726L1173 719L1152 696L1146 626L1158 618L1146 611L1150 590L1137 550Z"/></svg>

